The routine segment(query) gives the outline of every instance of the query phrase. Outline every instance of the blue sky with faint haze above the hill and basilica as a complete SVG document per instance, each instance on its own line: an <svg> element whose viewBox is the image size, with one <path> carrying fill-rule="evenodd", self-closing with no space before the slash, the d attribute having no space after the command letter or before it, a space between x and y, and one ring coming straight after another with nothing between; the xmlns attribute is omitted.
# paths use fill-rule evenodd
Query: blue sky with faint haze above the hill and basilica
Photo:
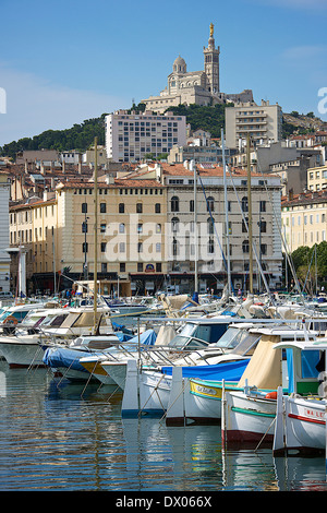
<svg viewBox="0 0 327 513"><path fill-rule="evenodd" d="M0 146L159 94L179 55L203 70L210 23L223 93L327 121L327 0L0 0Z"/></svg>

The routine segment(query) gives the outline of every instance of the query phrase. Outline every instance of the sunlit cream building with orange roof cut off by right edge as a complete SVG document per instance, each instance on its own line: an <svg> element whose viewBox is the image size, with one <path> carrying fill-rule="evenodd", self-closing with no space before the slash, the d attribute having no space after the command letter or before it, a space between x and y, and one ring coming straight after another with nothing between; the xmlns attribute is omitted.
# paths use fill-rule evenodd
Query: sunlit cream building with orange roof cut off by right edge
<svg viewBox="0 0 327 513"><path fill-rule="evenodd" d="M288 250L326 240L327 191L289 194L281 201L281 223Z"/></svg>

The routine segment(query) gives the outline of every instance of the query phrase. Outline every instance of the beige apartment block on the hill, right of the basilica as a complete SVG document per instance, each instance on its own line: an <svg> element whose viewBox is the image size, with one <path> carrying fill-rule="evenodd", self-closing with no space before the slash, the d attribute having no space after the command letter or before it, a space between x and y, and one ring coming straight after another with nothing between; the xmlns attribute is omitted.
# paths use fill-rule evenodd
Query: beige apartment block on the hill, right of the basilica
<svg viewBox="0 0 327 513"><path fill-rule="evenodd" d="M246 140L247 134L254 143L267 143L281 139L282 111L281 107L262 100L235 104L226 109L226 145L239 147L240 141Z"/></svg>

